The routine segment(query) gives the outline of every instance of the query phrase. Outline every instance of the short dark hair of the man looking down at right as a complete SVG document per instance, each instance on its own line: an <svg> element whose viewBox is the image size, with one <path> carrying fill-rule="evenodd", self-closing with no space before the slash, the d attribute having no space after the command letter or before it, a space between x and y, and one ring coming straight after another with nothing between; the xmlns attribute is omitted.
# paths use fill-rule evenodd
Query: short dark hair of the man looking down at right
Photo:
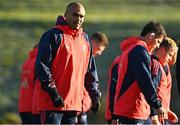
<svg viewBox="0 0 180 125"><path fill-rule="evenodd" d="M159 37L161 35L163 35L164 37L166 36L164 27L159 22L154 21L150 21L149 23L147 23L140 35L146 36L148 33L155 33L156 37Z"/></svg>

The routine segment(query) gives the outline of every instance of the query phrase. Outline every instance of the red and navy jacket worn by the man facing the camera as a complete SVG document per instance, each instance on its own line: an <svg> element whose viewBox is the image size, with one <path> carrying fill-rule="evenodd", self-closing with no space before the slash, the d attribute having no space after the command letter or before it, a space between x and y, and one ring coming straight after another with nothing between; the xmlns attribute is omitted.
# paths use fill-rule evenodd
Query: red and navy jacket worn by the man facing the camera
<svg viewBox="0 0 180 125"><path fill-rule="evenodd" d="M72 30L62 22L42 36L36 60L38 107L40 110L81 111L84 86L93 102L99 100L98 77L87 34ZM85 74L92 82L85 83ZM48 93L41 88L54 80L65 106L56 108Z"/></svg>

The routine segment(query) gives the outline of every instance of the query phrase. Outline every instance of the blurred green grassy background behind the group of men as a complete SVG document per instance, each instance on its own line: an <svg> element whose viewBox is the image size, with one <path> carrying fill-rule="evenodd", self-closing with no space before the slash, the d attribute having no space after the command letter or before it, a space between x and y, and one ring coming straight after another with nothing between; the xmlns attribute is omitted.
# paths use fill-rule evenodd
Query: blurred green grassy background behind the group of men
<svg viewBox="0 0 180 125"><path fill-rule="evenodd" d="M55 25L72 0L0 0L0 123L20 123L18 94L20 69L28 52L40 36ZM121 53L119 43L128 36L138 36L151 20L162 23L169 36L180 39L179 0L82 0L86 7L84 29L91 34L102 31L110 44L96 57L102 107L89 112L89 123L106 123L104 119L108 68ZM180 118L180 101L172 67L171 109Z"/></svg>

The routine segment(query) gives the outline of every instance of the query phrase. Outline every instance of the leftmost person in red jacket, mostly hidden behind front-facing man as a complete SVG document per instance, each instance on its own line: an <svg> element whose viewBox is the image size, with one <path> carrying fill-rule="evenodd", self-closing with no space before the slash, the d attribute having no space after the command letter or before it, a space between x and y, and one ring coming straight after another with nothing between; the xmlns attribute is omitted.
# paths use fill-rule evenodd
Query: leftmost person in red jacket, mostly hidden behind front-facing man
<svg viewBox="0 0 180 125"><path fill-rule="evenodd" d="M35 61L37 56L37 45L29 52L29 56L22 65L21 84L19 90L19 113L22 124L32 124L35 118L32 114L32 100L35 86Z"/></svg>

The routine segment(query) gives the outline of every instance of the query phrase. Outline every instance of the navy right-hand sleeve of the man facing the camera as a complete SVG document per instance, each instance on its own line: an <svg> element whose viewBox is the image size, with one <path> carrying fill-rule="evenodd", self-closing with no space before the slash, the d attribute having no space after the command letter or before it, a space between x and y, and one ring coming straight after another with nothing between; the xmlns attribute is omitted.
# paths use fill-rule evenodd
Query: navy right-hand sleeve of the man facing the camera
<svg viewBox="0 0 180 125"><path fill-rule="evenodd" d="M88 71L85 75L85 88L89 93L92 103L98 103L100 101L101 92L99 90L99 79L93 56L90 58Z"/></svg>

